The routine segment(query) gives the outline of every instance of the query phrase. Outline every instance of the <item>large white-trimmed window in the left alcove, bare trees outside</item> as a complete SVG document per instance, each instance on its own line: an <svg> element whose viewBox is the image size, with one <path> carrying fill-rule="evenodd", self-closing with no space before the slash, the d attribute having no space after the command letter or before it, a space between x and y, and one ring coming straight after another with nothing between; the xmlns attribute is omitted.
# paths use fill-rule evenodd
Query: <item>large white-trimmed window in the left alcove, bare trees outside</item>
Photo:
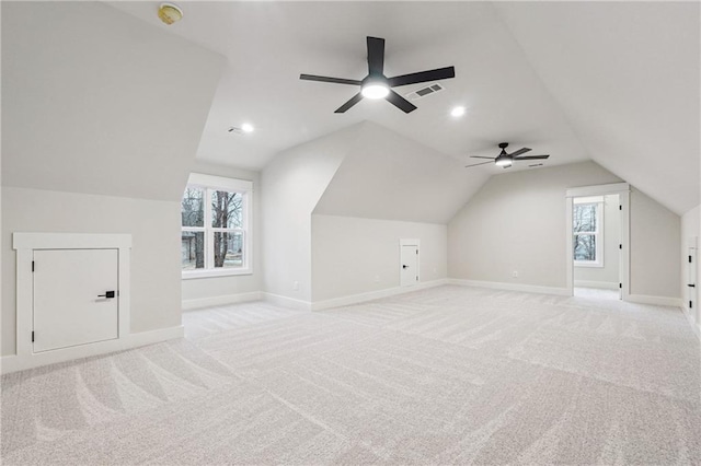
<svg viewBox="0 0 701 466"><path fill-rule="evenodd" d="M251 273L252 183L193 173L181 202L183 278Z"/></svg>

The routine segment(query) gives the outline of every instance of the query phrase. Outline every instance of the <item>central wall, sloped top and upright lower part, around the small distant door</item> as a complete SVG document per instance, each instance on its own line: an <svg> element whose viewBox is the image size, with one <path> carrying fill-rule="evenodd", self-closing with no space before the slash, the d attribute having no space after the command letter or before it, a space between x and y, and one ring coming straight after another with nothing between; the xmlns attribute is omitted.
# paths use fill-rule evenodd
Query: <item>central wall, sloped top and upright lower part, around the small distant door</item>
<svg viewBox="0 0 701 466"><path fill-rule="evenodd" d="M312 215L313 302L397 291L399 241L421 241L421 282L447 270L447 228L487 175L380 125L361 124Z"/></svg>

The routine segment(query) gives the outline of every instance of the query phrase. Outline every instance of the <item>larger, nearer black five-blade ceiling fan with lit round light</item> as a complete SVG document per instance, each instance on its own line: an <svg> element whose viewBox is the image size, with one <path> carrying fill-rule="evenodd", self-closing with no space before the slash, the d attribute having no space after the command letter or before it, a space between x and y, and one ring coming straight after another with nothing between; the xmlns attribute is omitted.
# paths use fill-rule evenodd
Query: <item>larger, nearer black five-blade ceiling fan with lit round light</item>
<svg viewBox="0 0 701 466"><path fill-rule="evenodd" d="M344 78L329 78L314 74L300 74L299 79L307 81L331 82L334 84L359 85L360 92L355 94L348 102L336 108L334 113L342 114L363 97L384 98L404 113L416 109L416 106L406 98L392 91L392 88L400 85L416 84L420 82L437 81L456 77L453 67L438 68L435 70L420 71L416 73L402 74L388 78L384 75L384 39L379 37L368 37L368 75L361 81Z"/></svg>

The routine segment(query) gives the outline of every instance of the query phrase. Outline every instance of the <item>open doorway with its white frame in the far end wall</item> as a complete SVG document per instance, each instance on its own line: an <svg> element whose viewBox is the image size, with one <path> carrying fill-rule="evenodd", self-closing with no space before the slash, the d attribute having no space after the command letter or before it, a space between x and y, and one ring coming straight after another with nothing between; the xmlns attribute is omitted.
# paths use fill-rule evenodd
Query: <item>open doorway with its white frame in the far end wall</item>
<svg viewBox="0 0 701 466"><path fill-rule="evenodd" d="M566 284L571 295L627 300L630 295L630 185L566 190Z"/></svg>

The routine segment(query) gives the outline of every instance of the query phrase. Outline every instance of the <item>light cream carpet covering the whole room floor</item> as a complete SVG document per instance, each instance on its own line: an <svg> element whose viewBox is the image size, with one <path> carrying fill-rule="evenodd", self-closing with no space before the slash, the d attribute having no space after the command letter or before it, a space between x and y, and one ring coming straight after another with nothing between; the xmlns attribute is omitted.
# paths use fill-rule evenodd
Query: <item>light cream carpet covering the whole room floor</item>
<svg viewBox="0 0 701 466"><path fill-rule="evenodd" d="M679 310L440 287L2 377L3 464L701 464Z"/></svg>

